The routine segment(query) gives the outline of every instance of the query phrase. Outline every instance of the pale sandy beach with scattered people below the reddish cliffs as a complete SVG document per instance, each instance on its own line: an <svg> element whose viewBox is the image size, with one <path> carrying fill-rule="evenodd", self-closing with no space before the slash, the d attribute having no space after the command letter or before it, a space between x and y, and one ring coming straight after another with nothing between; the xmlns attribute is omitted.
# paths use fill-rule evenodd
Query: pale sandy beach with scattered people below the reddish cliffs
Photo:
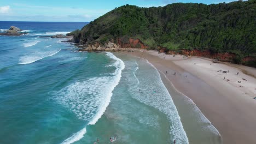
<svg viewBox="0 0 256 144"><path fill-rule="evenodd" d="M157 51L127 53L147 59L179 92L193 100L218 129L224 144L256 143L255 68Z"/></svg>

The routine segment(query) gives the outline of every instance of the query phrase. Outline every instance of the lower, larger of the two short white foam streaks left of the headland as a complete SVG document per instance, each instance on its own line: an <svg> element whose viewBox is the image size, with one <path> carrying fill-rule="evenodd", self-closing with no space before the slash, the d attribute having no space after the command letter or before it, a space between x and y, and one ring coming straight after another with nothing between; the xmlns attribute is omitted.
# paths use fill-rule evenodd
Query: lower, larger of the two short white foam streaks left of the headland
<svg viewBox="0 0 256 144"><path fill-rule="evenodd" d="M61 49L57 50L57 51L50 51L50 52L31 53L30 56L21 57L19 64L30 64L30 63L36 62L40 59L43 59L45 57L50 57L50 56L56 55L56 53L58 53L60 51L61 51Z"/></svg>

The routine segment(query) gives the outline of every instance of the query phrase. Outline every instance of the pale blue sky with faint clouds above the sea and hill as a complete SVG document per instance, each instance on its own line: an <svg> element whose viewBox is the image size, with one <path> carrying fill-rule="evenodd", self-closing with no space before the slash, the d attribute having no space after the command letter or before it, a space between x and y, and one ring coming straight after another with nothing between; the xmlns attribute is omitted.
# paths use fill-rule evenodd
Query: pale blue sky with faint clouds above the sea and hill
<svg viewBox="0 0 256 144"><path fill-rule="evenodd" d="M0 0L0 21L90 22L125 4L162 7L178 2L216 4L232 1L236 0Z"/></svg>

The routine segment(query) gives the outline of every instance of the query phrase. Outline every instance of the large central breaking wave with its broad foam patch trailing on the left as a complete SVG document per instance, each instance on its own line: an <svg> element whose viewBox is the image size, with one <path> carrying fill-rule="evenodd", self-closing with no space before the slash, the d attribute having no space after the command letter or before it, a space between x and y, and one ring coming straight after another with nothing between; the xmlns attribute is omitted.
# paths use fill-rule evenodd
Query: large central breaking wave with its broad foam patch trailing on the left
<svg viewBox="0 0 256 144"><path fill-rule="evenodd" d="M94 125L101 118L112 97L112 91L121 79L121 71L125 64L121 59L115 57L113 53L106 53L112 58L116 67L112 76L92 77L83 82L75 82L61 91L56 92L56 100L67 106L79 119ZM72 143L82 139L83 131L78 131L64 142ZM82 137L80 137L82 136Z"/></svg>

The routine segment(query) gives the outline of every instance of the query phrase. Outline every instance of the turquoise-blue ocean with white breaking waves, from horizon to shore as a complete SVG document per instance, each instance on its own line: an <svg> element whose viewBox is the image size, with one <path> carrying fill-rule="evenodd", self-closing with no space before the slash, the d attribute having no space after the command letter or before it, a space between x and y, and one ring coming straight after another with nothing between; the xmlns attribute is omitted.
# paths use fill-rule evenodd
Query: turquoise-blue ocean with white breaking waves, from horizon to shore
<svg viewBox="0 0 256 144"><path fill-rule="evenodd" d="M0 143L221 143L146 59L50 38L87 23L0 21Z"/></svg>

